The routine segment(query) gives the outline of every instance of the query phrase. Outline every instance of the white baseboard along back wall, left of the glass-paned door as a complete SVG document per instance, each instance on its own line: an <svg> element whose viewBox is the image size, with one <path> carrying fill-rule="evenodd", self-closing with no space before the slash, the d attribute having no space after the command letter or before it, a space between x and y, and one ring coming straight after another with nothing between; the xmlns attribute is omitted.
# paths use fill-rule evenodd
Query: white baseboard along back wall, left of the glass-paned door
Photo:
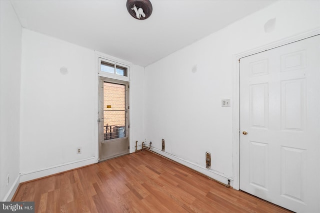
<svg viewBox="0 0 320 213"><path fill-rule="evenodd" d="M20 183L97 163L95 157L59 164L20 174Z"/></svg>

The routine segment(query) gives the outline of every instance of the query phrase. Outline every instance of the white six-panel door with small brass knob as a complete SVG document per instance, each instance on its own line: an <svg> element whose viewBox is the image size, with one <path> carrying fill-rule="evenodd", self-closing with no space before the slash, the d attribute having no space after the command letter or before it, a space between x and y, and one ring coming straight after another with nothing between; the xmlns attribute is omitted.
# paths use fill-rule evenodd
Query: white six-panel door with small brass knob
<svg viewBox="0 0 320 213"><path fill-rule="evenodd" d="M240 190L320 212L320 35L240 59Z"/></svg>

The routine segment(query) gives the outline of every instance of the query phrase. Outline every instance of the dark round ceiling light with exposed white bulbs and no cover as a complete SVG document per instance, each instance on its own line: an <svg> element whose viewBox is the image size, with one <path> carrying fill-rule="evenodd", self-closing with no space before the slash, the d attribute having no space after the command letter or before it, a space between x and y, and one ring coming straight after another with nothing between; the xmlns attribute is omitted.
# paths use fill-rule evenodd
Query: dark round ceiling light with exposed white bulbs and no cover
<svg viewBox="0 0 320 213"><path fill-rule="evenodd" d="M152 4L149 0L127 0L126 9L136 19L146 19L152 13Z"/></svg>

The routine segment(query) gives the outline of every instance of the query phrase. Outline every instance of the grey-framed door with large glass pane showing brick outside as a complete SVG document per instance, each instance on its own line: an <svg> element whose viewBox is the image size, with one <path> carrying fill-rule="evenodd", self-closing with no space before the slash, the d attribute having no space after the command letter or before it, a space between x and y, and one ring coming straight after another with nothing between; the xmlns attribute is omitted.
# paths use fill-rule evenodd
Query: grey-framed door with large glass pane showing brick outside
<svg viewBox="0 0 320 213"><path fill-rule="evenodd" d="M129 153L129 82L99 77L99 161Z"/></svg>

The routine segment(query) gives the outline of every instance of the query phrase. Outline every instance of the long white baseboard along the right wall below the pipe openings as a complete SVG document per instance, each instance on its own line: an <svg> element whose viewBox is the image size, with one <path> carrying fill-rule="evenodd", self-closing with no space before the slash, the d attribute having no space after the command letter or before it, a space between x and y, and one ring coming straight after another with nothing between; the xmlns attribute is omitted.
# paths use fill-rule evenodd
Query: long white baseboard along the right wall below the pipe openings
<svg viewBox="0 0 320 213"><path fill-rule="evenodd" d="M175 161L175 162L177 162L179 164L182 164L182 165L184 165L184 166L186 166L186 167L188 167L188 168L190 168L192 170L195 170L195 171L197 171L197 172L199 172L199 173L201 173L201 174L203 174L203 175L205 175L205 176L207 176L209 178L212 178L212 179L214 179L214 180L216 180L218 182L221 182L223 184L227 184L228 180L230 180L230 186L232 187L233 178L231 178L231 177L227 177L224 174L219 173L219 172L214 171L214 170L211 170L211 169L206 169L205 167L201 167L200 165L197 165L195 163L189 162L187 160L184 160L184 159L179 158L177 156L174 156L172 154L163 152L163 151L161 151L161 150L159 150L157 148L151 147L150 150L152 152L155 152L155 153L157 153L157 154L159 154L159 155L161 155L163 157L166 157L166 158L168 158L168 159L170 159L172 161Z"/></svg>

